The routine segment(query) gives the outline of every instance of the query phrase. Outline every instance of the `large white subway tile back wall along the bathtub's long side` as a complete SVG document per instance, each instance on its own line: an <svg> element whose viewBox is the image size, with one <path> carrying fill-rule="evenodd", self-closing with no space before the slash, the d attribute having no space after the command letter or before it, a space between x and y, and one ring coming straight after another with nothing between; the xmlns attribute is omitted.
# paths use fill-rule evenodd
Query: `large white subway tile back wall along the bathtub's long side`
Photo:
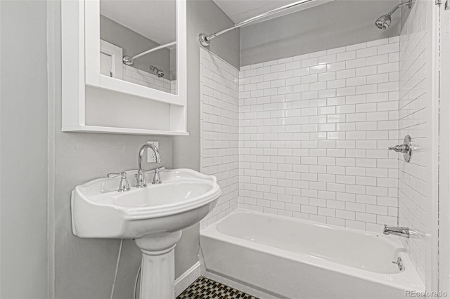
<svg viewBox="0 0 450 299"><path fill-rule="evenodd" d="M240 69L239 206L397 225L399 36Z"/></svg>

